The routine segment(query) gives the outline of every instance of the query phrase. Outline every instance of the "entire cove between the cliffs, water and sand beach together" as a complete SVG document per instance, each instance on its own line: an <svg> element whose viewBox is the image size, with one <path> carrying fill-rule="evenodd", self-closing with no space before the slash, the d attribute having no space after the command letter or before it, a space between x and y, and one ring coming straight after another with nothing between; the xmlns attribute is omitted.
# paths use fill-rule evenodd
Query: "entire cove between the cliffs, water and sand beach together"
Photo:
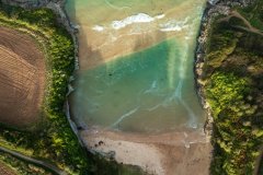
<svg viewBox="0 0 263 175"><path fill-rule="evenodd" d="M71 115L90 150L153 174L208 174L193 73L204 4L67 2L80 47Z"/></svg>

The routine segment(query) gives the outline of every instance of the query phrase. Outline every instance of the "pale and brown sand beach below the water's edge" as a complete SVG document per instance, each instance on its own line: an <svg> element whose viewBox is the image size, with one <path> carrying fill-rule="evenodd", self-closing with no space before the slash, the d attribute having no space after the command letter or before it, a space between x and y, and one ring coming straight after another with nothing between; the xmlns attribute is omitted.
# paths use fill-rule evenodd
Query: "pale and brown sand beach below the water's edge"
<svg viewBox="0 0 263 175"><path fill-rule="evenodd" d="M139 135L84 130L81 136L90 150L150 174L209 174L211 145L203 131Z"/></svg>

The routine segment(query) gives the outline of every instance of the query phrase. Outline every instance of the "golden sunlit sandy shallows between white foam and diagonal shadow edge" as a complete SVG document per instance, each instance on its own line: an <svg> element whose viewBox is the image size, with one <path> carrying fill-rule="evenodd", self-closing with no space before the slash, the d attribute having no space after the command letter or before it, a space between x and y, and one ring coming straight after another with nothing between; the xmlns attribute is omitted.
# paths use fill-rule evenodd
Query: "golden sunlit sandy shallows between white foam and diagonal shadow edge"
<svg viewBox="0 0 263 175"><path fill-rule="evenodd" d="M140 30L126 27L108 33L81 27L79 34L80 69L94 68L106 61L149 48L175 36L187 36L187 32L164 33L155 30L153 24L140 24ZM90 40L90 42L88 42ZM113 47L114 46L114 47Z"/></svg>

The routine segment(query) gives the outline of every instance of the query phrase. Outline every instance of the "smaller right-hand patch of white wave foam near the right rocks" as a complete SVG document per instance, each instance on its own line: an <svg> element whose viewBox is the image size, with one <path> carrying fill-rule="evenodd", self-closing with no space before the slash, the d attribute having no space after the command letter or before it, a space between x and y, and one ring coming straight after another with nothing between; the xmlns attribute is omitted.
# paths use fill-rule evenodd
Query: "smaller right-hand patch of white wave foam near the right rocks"
<svg viewBox="0 0 263 175"><path fill-rule="evenodd" d="M161 32L180 32L188 27L187 22L188 22L188 18L186 18L184 21L172 20L165 24L160 24L160 27L161 27L160 31Z"/></svg>

